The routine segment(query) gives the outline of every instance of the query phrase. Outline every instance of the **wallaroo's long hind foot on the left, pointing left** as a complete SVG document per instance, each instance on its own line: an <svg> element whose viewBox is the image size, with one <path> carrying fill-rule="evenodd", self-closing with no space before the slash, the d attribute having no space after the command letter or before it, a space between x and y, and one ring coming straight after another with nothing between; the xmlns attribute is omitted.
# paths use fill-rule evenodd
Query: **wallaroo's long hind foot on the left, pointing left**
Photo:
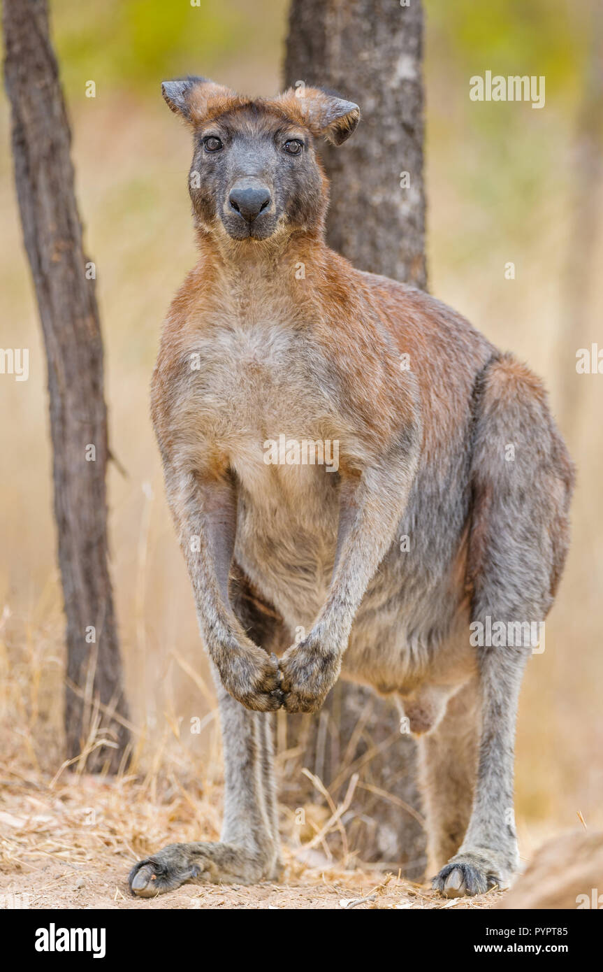
<svg viewBox="0 0 603 972"><path fill-rule="evenodd" d="M276 854L245 851L234 844L169 844L139 860L129 875L130 890L150 898L180 885L253 885L278 879Z"/></svg>

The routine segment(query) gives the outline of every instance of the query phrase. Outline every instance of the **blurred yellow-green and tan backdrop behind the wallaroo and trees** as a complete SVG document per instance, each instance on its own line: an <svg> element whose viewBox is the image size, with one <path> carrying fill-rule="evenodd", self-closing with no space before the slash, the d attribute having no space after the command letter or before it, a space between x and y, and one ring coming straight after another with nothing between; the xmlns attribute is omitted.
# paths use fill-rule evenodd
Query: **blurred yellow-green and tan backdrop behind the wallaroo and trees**
<svg viewBox="0 0 603 972"><path fill-rule="evenodd" d="M603 349L603 25L596 0L424 7L429 289L545 378L578 467L569 561L519 710L525 847L574 826L577 813L603 825L603 375L576 373L580 348L598 340ZM110 440L124 470L110 467L110 536L135 766L207 780L221 772L213 694L149 417L162 316L195 260L189 137L159 83L193 73L276 92L287 4L61 0L50 9L97 268ZM546 107L472 102L469 78L486 70L546 76ZM0 749L7 761L53 771L64 661L46 361L6 98L0 131L0 345L30 349L27 382L0 376ZM509 262L515 279L505 277ZM201 731L191 734L195 716Z"/></svg>

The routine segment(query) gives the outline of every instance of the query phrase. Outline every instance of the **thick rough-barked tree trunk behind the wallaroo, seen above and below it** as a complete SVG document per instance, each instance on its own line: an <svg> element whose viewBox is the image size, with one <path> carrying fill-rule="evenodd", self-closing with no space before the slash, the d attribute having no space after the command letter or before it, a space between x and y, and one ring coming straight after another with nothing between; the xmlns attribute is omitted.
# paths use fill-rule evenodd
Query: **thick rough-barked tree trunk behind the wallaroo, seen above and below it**
<svg viewBox="0 0 603 972"><path fill-rule="evenodd" d="M335 90L361 111L350 142L320 151L331 180L328 243L359 269L424 288L421 49L419 0L408 7L390 0L292 0L285 85ZM293 805L311 793L299 783L301 766L336 801L357 769L344 817L352 849L364 861L385 860L419 878L425 838L412 813L419 805L416 749L398 722L390 701L340 682L317 718L289 716L286 725L281 719L280 748L296 750L285 760Z"/></svg>

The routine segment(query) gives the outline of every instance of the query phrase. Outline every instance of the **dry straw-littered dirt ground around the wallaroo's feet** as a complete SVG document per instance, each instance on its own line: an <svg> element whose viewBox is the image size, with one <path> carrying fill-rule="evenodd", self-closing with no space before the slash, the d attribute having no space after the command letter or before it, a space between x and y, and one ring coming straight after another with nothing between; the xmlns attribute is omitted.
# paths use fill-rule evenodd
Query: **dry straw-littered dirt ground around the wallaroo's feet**
<svg viewBox="0 0 603 972"><path fill-rule="evenodd" d="M156 898L133 898L125 879L137 857L179 840L216 840L218 787L190 796L174 781L68 773L51 780L6 767L2 776L5 908L466 909L491 908L502 897L492 890L446 900L398 875L344 868L316 852L305 862L303 847L285 847L282 884L183 885Z"/></svg>

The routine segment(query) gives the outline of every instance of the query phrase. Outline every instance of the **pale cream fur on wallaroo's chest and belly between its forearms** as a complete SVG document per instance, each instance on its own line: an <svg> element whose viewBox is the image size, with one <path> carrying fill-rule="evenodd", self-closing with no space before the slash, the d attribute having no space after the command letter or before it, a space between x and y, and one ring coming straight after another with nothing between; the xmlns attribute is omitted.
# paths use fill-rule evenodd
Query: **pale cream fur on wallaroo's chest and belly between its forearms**
<svg viewBox="0 0 603 972"><path fill-rule="evenodd" d="M200 461L236 473L237 560L308 624L333 568L345 423L307 330L275 318L219 317L188 337L180 414Z"/></svg>

